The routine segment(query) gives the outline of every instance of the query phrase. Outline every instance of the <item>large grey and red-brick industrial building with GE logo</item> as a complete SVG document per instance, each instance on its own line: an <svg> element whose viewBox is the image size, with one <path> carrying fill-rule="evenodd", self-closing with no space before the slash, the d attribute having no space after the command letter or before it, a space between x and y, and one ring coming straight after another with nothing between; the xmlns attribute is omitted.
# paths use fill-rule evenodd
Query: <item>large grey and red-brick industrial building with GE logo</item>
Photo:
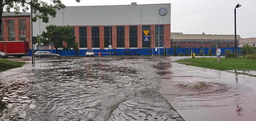
<svg viewBox="0 0 256 121"><path fill-rule="evenodd" d="M160 48L170 48L171 3L68 6L50 17L49 23L33 22L33 36L52 24L73 27L80 50L108 49L109 45L111 49L158 48L158 34Z"/></svg>

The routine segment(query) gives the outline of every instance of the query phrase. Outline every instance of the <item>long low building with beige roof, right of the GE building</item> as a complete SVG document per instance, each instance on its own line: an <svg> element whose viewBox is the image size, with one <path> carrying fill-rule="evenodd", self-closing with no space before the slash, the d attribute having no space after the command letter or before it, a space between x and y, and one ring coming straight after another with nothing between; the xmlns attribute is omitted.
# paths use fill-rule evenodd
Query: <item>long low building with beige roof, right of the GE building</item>
<svg viewBox="0 0 256 121"><path fill-rule="evenodd" d="M237 35L238 41L241 39ZM182 32L171 32L171 47L180 45L182 48L189 47L214 47L216 45L221 48L235 47L235 35L205 35L205 34L183 34ZM238 43L237 41L237 43Z"/></svg>

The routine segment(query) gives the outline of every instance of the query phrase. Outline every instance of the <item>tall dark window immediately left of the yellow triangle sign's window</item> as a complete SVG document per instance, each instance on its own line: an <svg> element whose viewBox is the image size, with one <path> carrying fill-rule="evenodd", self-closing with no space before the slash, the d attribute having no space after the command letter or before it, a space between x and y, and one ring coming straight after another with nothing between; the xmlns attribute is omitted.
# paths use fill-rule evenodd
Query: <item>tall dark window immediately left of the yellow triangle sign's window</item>
<svg viewBox="0 0 256 121"><path fill-rule="evenodd" d="M137 41L137 26L130 26L129 27L130 32L130 47L138 47L138 41Z"/></svg>

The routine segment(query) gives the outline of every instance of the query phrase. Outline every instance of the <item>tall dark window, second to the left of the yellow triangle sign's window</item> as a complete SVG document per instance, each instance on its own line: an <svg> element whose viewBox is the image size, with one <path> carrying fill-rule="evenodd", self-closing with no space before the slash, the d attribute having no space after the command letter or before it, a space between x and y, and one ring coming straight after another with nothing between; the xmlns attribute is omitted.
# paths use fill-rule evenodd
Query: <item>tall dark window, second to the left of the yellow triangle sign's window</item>
<svg viewBox="0 0 256 121"><path fill-rule="evenodd" d="M125 47L125 26L117 26L117 47Z"/></svg>

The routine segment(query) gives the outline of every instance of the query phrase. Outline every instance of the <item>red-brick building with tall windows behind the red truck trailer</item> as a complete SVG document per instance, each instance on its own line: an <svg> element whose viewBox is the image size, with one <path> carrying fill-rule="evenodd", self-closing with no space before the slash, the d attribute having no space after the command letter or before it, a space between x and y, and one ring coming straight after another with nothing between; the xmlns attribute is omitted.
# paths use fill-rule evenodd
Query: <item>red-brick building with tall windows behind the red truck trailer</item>
<svg viewBox="0 0 256 121"><path fill-rule="evenodd" d="M30 12L3 11L0 41L29 41L31 45L30 32Z"/></svg>

